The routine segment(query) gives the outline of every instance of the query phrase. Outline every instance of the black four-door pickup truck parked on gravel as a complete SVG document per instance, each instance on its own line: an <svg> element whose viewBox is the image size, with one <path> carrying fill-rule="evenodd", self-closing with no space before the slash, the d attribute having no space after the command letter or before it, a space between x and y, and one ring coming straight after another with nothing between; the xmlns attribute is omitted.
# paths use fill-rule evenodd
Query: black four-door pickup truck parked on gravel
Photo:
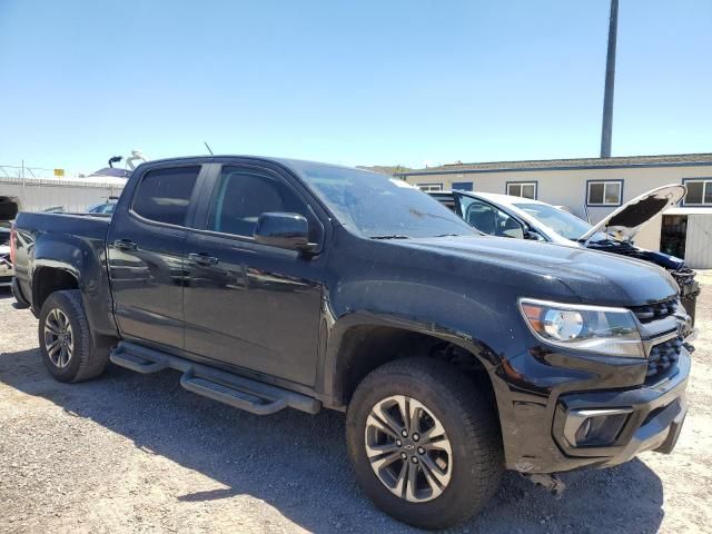
<svg viewBox="0 0 712 534"><path fill-rule="evenodd" d="M344 411L358 483L416 526L467 518L504 469L555 484L670 453L685 416L668 273L482 236L387 176L151 161L111 218L21 214L11 241L57 379L170 367L254 414Z"/></svg>

